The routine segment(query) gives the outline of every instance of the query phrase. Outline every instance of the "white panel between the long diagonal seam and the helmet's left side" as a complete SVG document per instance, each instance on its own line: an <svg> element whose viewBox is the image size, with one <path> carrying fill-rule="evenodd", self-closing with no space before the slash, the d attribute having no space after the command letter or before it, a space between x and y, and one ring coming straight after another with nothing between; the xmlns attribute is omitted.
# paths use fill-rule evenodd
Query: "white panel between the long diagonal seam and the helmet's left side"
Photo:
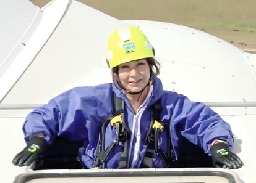
<svg viewBox="0 0 256 183"><path fill-rule="evenodd" d="M45 12L47 7L45 9ZM43 104L75 86L111 81L106 41L124 23L77 1L2 104Z"/></svg>

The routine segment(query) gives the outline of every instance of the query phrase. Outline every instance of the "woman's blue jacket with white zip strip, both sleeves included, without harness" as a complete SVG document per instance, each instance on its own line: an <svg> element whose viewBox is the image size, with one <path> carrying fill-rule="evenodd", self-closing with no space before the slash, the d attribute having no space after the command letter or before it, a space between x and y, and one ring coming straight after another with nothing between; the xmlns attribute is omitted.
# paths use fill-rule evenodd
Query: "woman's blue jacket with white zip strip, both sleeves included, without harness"
<svg viewBox="0 0 256 183"><path fill-rule="evenodd" d="M80 161L87 168L94 167L101 121L113 115L113 92L125 102L124 121L132 135L129 138L129 168L139 168L145 154L145 137L150 126L150 107L160 99L161 122L169 126L176 160L181 137L185 137L210 155L209 144L214 139L226 139L233 145L231 128L220 116L200 102L192 102L176 92L164 91L160 79L153 76L153 91L142 108L134 115L125 94L113 83L94 87L76 87L51 99L48 104L31 112L23 125L25 140L35 134L45 137L51 144L57 136L70 140L84 140L79 150ZM115 130L106 127L105 147L113 142ZM160 147L167 149L166 133L160 134ZM117 168L122 144L113 148L106 163L107 168ZM156 168L164 167L160 157L153 160Z"/></svg>

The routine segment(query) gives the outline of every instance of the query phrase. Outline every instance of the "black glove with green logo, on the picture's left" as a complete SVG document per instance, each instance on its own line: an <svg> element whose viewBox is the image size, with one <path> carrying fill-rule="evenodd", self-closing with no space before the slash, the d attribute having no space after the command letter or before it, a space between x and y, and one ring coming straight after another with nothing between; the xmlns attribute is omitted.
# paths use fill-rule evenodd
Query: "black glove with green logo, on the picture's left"
<svg viewBox="0 0 256 183"><path fill-rule="evenodd" d="M30 137L30 142L19 152L12 163L18 166L28 166L43 153L45 148L45 139L40 136Z"/></svg>

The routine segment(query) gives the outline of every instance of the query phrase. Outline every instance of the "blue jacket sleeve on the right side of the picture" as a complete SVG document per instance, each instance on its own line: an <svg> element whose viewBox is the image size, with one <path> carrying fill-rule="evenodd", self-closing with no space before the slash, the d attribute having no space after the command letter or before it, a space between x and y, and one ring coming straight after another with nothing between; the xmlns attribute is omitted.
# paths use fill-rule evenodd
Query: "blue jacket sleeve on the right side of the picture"
<svg viewBox="0 0 256 183"><path fill-rule="evenodd" d="M210 154L211 142L215 139L224 139L229 148L233 145L231 127L216 112L200 102L192 102L180 95L174 105L173 128L177 134L181 133L190 142Z"/></svg>

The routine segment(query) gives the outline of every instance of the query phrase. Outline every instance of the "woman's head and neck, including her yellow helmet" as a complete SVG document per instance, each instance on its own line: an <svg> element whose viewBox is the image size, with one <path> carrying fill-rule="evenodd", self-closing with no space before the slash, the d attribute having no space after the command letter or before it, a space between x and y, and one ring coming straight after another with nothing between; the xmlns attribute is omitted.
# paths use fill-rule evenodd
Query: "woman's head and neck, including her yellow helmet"
<svg viewBox="0 0 256 183"><path fill-rule="evenodd" d="M134 26L129 31L115 30L109 36L107 62L112 68L113 81L124 89L134 113L148 95L153 66L154 48L141 30ZM156 68L159 71L159 68Z"/></svg>

